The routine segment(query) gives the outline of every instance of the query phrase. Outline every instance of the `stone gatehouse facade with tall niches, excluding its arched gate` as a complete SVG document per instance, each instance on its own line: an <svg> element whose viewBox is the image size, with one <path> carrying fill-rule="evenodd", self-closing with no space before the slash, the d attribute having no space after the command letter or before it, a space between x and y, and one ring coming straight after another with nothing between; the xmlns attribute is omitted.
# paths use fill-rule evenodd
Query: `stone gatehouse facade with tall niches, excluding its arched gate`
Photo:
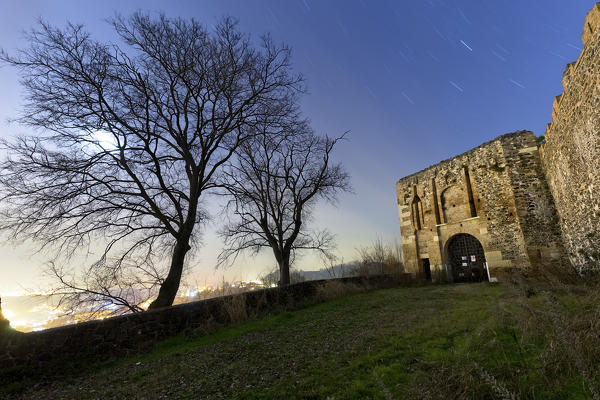
<svg viewBox="0 0 600 400"><path fill-rule="evenodd" d="M405 265L447 269L454 235L474 236L490 271L560 263L557 214L533 133L502 135L398 181Z"/></svg>

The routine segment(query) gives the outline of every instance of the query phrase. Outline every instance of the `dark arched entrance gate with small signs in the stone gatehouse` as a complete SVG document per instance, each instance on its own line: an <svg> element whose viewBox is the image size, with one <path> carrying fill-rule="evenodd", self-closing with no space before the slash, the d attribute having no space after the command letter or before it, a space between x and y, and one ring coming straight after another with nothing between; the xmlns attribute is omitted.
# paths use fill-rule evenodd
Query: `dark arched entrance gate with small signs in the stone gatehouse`
<svg viewBox="0 0 600 400"><path fill-rule="evenodd" d="M447 254L454 282L488 280L483 246L475 236L466 233L452 236L448 241Z"/></svg>

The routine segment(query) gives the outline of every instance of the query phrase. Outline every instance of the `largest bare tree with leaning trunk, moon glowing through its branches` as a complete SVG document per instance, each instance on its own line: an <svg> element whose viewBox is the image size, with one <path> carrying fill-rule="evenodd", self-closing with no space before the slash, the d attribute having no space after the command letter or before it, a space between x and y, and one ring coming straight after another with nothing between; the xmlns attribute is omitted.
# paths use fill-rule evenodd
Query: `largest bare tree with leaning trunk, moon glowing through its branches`
<svg viewBox="0 0 600 400"><path fill-rule="evenodd" d="M17 121L39 132L3 143L1 228L61 256L105 240L98 265L116 260L113 271L170 253L150 305L164 307L206 218L203 194L265 116L296 108L302 79L287 47L254 45L230 18L212 31L143 13L110 23L117 44L40 22L28 48L0 53L22 75Z"/></svg>

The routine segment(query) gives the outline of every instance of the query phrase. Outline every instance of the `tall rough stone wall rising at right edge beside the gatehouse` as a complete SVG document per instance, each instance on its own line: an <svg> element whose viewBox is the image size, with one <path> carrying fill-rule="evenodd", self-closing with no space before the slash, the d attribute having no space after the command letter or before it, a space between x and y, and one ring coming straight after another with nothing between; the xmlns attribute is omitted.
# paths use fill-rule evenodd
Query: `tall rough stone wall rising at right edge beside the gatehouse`
<svg viewBox="0 0 600 400"><path fill-rule="evenodd" d="M580 272L600 261L600 3L587 14L584 47L568 64L554 100L541 160L555 199L563 241Z"/></svg>

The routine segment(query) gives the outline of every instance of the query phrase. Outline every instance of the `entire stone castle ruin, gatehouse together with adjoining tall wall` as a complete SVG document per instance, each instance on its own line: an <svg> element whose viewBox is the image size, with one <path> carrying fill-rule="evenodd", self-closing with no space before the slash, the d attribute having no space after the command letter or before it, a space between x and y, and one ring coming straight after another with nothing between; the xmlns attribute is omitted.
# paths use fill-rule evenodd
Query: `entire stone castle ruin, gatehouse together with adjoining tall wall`
<svg viewBox="0 0 600 400"><path fill-rule="evenodd" d="M409 271L481 280L505 267L600 269L599 28L596 3L539 149L531 132L506 134L398 181Z"/></svg>

